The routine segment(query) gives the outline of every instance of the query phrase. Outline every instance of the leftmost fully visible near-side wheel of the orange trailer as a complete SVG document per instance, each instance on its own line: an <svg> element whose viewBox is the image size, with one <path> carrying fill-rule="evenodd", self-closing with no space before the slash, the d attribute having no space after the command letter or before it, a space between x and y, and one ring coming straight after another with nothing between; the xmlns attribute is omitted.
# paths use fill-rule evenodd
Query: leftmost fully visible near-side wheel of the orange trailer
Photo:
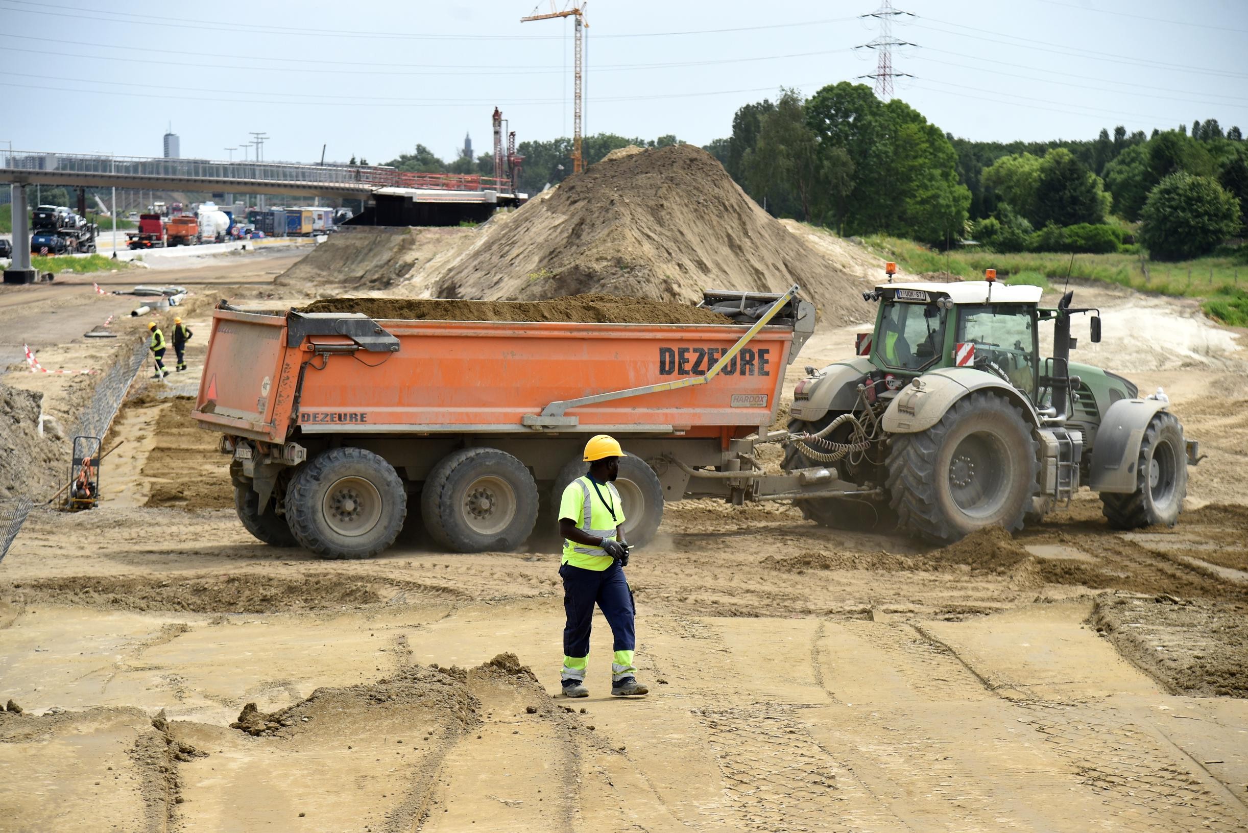
<svg viewBox="0 0 1248 833"><path fill-rule="evenodd" d="M371 558L398 537L407 493L394 467L363 448L313 457L286 487L286 521L321 558Z"/></svg>

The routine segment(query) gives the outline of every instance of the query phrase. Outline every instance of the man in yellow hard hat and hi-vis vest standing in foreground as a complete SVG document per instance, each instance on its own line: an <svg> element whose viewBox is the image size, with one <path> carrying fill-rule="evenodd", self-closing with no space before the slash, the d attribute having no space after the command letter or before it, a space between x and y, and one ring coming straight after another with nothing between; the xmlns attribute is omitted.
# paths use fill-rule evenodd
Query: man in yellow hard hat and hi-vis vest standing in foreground
<svg viewBox="0 0 1248 833"><path fill-rule="evenodd" d="M633 666L634 634L633 591L624 578L628 543L624 541L624 506L612 482L619 475L624 451L604 433L585 443L584 460L589 473L578 477L563 491L559 502L559 533L563 536L563 609L568 614L563 628L563 693L589 697L585 669L589 664L589 629L594 604L607 617L615 639L612 658L612 694L645 694L636 682Z"/></svg>

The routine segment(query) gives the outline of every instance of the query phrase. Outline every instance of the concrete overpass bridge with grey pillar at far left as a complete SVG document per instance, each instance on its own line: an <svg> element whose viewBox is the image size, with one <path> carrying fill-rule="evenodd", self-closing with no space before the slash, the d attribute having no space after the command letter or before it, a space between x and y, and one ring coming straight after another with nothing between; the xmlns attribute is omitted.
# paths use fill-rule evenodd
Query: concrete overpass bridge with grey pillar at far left
<svg viewBox="0 0 1248 833"><path fill-rule="evenodd" d="M356 225L457 225L483 221L498 206L517 205L509 180L461 174L413 174L382 165L305 165L300 162L151 159L100 154L9 151L0 182L12 191L12 269L6 282L32 280L31 185L119 187L151 191L206 191L310 197L347 197L372 204Z"/></svg>

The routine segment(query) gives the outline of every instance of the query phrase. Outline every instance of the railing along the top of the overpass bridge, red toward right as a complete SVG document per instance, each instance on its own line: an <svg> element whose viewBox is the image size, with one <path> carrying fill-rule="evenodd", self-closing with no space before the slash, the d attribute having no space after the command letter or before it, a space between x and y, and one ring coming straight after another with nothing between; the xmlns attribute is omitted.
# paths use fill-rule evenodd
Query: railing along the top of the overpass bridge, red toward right
<svg viewBox="0 0 1248 833"><path fill-rule="evenodd" d="M373 187L451 191L510 191L508 180L463 174L414 174L384 165L306 165L301 162L152 159L104 154L56 154L14 150L0 152L2 167L71 174L120 174L165 179L263 180L267 182L359 182ZM217 189L213 189L217 190Z"/></svg>

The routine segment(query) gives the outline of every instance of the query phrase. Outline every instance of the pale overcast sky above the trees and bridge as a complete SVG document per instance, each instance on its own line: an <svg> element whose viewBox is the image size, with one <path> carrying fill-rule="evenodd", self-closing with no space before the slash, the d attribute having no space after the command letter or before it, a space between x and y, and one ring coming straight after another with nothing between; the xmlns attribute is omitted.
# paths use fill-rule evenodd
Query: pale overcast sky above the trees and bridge
<svg viewBox="0 0 1248 833"><path fill-rule="evenodd" d="M557 0L564 7L565 0ZM1248 130L1248 0L896 0L895 96L980 140L1092 139L1217 119ZM879 0L593 0L585 132L704 145L743 104L875 71ZM107 9L109 11L101 11ZM572 132L573 24L533 0L0 0L0 142L378 164L417 142ZM230 16L216 16L225 12ZM542 0L539 11L549 11ZM864 81L871 84L870 79ZM235 150L240 159L242 150Z"/></svg>

